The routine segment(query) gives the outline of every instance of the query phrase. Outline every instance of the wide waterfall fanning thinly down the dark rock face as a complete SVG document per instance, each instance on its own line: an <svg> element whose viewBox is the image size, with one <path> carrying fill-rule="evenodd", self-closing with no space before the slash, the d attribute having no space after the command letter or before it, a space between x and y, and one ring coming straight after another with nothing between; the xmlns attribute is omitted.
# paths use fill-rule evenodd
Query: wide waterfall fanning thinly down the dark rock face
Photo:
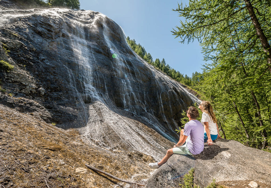
<svg viewBox="0 0 271 188"><path fill-rule="evenodd" d="M37 69L53 67L55 73L44 79L64 83L59 93L70 102L55 101L55 107L76 121L60 127L75 127L86 142L107 150L155 158L178 140L180 113L198 99L140 58L114 21L68 9L1 10L0 16L0 28L13 27L45 58Z"/></svg>

